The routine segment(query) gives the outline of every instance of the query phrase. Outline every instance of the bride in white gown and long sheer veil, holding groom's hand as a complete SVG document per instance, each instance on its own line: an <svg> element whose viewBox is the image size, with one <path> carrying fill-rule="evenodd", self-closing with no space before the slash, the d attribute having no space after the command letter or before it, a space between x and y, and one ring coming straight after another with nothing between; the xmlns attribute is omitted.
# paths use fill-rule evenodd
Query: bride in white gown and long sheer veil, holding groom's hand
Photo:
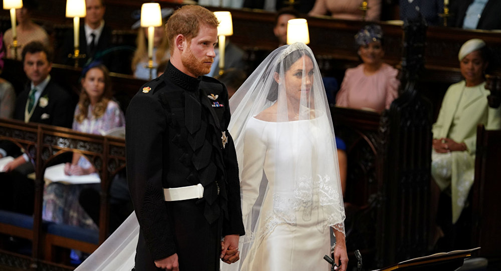
<svg viewBox="0 0 501 271"><path fill-rule="evenodd" d="M346 270L344 207L332 120L313 53L272 52L230 100L245 235L240 260L221 270ZM77 270L130 270L134 213ZM229 247L229 249L233 249Z"/></svg>

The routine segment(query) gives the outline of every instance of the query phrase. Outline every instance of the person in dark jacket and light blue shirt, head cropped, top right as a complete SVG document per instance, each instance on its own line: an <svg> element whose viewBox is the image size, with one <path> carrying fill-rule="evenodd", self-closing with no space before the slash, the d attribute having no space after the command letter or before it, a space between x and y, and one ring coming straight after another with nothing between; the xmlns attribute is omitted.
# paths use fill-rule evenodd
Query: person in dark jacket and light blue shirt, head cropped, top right
<svg viewBox="0 0 501 271"><path fill-rule="evenodd" d="M499 11L501 11L499 0L456 0L450 5L450 26L464 29L499 30L501 29Z"/></svg>

